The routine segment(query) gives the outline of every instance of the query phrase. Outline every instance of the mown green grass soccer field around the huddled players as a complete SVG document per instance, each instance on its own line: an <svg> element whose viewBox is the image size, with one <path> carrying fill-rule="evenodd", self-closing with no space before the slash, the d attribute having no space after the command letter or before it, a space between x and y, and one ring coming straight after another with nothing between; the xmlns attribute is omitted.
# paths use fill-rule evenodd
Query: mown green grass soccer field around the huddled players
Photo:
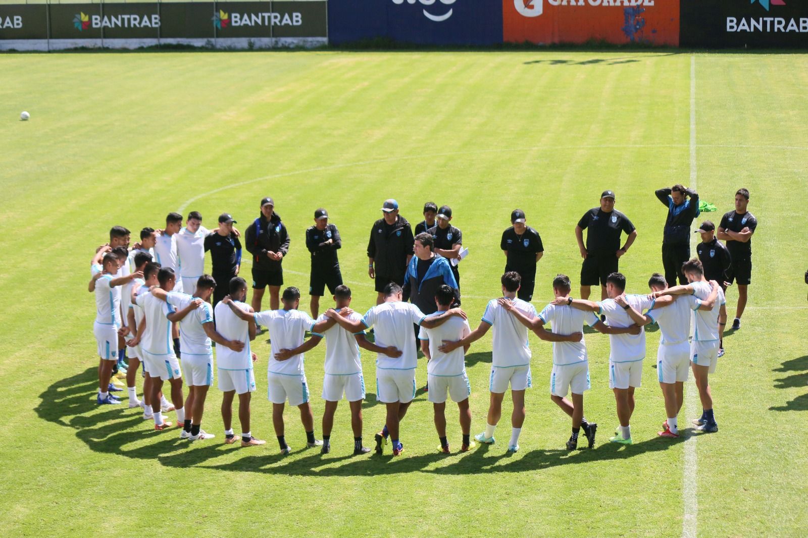
<svg viewBox="0 0 808 538"><path fill-rule="evenodd" d="M804 536L808 55L8 54L0 73L6 536ZM31 120L18 121L23 110ZM171 211L200 211L208 228L226 211L243 231L271 195L292 237L284 285L301 288L304 309L304 231L325 207L343 236L351 306L364 312L376 295L368 232L383 200L396 198L414 226L424 202L448 204L470 251L461 289L475 327L500 294L499 239L513 208L544 242L532 301L541 309L557 273L570 275L577 296L574 226L607 188L638 228L621 259L627 291L646 292L650 273L662 270L667 213L654 190L674 183L695 184L716 204L698 220L716 224L747 187L760 222L743 326L727 331L710 378L716 434L688 427L674 442L657 437L665 418L658 330L648 334L632 446L608 443L617 426L608 337L590 332L585 409L600 424L593 450L564 448L570 420L549 400L551 347L533 335L528 417L511 456L509 396L498 443L444 456L420 391L402 422L401 457L351 456L345 401L326 456L304 448L297 410L287 406L293 452L280 456L265 392L266 333L253 347L251 429L267 439L263 447L221 442L215 387L204 427L217 438L192 445L176 429L153 431L141 410L126 408L125 392L123 406L95 404L95 302L86 284L112 225L133 230L134 240ZM248 259L248 280L249 270ZM729 288L730 321L736 298ZM324 352L323 342L306 354L318 436ZM385 417L373 358L363 351L366 446ZM488 334L466 357L472 434L486 423L490 359ZM425 361L416 376L423 386ZM455 409L447 405L457 449ZM691 380L680 424L700 413Z"/></svg>

